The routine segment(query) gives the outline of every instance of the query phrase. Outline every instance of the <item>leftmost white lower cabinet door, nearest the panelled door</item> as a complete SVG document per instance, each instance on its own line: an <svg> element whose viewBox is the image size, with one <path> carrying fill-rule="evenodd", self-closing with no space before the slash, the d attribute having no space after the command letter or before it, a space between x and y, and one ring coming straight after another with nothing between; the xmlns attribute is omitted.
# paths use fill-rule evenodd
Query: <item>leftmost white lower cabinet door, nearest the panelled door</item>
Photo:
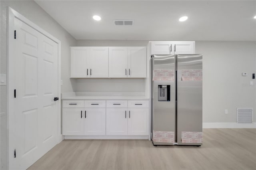
<svg viewBox="0 0 256 170"><path fill-rule="evenodd" d="M84 109L63 108L62 109L62 134L83 135L84 134Z"/></svg>

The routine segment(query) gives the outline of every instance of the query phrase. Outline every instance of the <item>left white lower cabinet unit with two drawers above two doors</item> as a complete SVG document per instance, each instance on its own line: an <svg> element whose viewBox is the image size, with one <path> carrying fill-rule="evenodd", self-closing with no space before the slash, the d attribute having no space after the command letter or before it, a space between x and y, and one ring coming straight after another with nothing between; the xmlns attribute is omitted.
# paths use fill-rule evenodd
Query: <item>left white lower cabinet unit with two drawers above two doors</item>
<svg viewBox="0 0 256 170"><path fill-rule="evenodd" d="M62 107L63 135L106 135L106 101L63 101Z"/></svg>

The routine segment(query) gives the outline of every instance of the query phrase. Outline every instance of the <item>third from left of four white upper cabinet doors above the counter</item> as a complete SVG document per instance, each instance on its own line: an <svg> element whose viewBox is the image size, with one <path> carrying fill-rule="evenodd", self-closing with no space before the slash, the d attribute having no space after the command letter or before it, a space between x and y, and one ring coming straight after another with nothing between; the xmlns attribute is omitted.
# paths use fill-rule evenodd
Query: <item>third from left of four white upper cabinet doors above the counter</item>
<svg viewBox="0 0 256 170"><path fill-rule="evenodd" d="M109 77L127 77L127 47L109 47Z"/></svg>

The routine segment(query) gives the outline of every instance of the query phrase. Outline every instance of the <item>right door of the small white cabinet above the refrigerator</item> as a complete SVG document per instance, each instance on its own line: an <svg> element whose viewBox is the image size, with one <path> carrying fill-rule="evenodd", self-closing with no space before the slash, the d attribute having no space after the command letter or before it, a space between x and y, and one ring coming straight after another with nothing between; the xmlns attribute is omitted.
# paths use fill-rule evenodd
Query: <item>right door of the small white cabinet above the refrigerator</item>
<svg viewBox="0 0 256 170"><path fill-rule="evenodd" d="M195 42L194 41L177 41L172 42L175 54L194 54Z"/></svg>

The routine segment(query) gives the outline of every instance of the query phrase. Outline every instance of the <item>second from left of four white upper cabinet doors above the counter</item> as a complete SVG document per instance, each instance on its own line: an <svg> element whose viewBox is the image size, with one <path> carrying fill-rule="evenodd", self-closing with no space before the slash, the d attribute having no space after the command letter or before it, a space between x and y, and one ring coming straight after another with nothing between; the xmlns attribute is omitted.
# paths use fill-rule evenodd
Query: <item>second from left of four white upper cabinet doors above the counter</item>
<svg viewBox="0 0 256 170"><path fill-rule="evenodd" d="M88 77L108 77L108 47L90 47Z"/></svg>

